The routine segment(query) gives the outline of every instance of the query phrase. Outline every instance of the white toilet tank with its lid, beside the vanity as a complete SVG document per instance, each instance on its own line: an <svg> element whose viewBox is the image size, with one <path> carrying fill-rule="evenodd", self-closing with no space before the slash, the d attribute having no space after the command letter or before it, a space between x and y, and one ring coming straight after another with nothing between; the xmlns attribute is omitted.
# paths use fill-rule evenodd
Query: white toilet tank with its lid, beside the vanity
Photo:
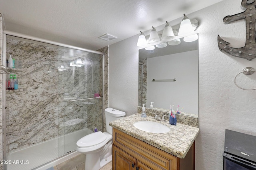
<svg viewBox="0 0 256 170"><path fill-rule="evenodd" d="M125 116L125 112L113 109L111 107L105 109L105 117L106 117L106 129L107 132L112 135L112 127L109 125L111 121L116 119L120 119Z"/></svg>

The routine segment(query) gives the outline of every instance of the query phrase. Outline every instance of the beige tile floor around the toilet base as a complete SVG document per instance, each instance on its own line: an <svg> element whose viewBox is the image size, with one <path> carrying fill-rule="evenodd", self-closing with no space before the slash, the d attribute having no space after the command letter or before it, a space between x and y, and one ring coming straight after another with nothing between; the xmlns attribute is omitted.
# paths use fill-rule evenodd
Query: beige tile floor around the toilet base
<svg viewBox="0 0 256 170"><path fill-rule="evenodd" d="M74 158L66 160L56 166L54 166L54 170L84 170L85 163L85 154L79 154ZM112 170L112 162L106 164L100 170Z"/></svg>

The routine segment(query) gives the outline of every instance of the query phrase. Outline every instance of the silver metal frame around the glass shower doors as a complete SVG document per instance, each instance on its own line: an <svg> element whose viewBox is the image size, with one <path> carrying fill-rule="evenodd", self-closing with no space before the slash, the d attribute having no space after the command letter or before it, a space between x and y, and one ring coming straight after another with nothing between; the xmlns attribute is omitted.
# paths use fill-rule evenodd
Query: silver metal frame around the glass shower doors
<svg viewBox="0 0 256 170"><path fill-rule="evenodd" d="M6 35L11 35L11 36L15 36L15 37L21 37L24 39L30 39L30 40L34 40L34 41L39 41L39 42L43 42L43 43L48 43L48 44L52 44L52 45L58 45L61 47L67 47L67 48L71 48L71 49L76 49L76 50L81 50L81 51L85 51L85 52L89 52L89 53L94 53L94 54L99 54L102 55L102 131L104 131L104 65L105 65L105 55L103 52L100 51L95 51L95 50L90 50L90 49L85 49L85 48L81 48L81 47L76 47L73 45L68 45L68 44L64 44L64 43L59 43L56 41L51 41L51 40L47 40L47 39L42 39L39 37L34 37L34 36L30 36L30 35L26 35L26 34L22 34L22 33L17 33L14 31L8 31L8 30L4 30L3 31L3 49L2 49L2 65L6 66ZM6 74L2 74L2 158L3 160L7 160L7 146L6 146L6 111L5 111L5 107L6 107ZM64 154L65 155L65 154ZM59 156L60 157L60 156ZM3 164L3 170L7 170L7 164Z"/></svg>

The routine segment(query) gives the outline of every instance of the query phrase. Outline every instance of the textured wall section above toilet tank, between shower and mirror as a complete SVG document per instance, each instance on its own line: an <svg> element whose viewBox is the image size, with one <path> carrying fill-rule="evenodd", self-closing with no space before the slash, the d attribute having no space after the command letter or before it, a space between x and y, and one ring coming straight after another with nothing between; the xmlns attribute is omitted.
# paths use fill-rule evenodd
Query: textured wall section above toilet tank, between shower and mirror
<svg viewBox="0 0 256 170"><path fill-rule="evenodd" d="M138 36L109 46L109 107L137 113L138 106Z"/></svg>

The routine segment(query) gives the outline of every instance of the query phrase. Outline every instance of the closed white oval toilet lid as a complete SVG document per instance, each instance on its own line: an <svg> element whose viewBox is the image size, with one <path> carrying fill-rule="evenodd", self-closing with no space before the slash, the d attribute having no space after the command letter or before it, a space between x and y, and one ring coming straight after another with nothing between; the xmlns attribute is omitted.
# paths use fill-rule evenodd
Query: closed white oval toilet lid
<svg viewBox="0 0 256 170"><path fill-rule="evenodd" d="M82 137L79 139L76 143L78 147L91 147L94 145L98 145L99 143L102 143L105 141L107 136L102 133L101 131L91 133L89 135L86 135L85 137Z"/></svg>

